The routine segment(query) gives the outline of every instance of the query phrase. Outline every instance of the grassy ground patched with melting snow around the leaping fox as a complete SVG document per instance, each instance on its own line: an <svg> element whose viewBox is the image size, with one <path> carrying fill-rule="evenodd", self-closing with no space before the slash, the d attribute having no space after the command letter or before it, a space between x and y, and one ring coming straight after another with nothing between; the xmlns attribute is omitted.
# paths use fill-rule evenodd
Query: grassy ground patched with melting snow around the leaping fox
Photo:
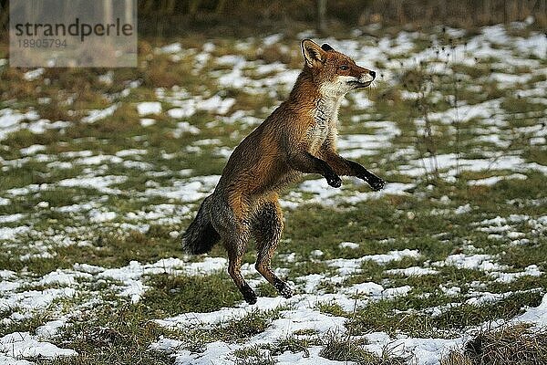
<svg viewBox="0 0 547 365"><path fill-rule="evenodd" d="M0 364L85 362L101 350L82 333L123 338L104 306L139 312L139 328L156 328L142 346L177 364L335 364L320 356L333 333L439 364L480 328L546 326L547 38L527 23L354 33L318 40L381 75L347 97L338 148L390 183L336 190L310 176L285 193L274 266L297 294L275 297L250 249L255 306L225 274L222 247L184 256L178 235L233 147L286 97L297 40L147 45L141 68L91 80L11 72ZM307 345L274 350L284 339Z"/></svg>

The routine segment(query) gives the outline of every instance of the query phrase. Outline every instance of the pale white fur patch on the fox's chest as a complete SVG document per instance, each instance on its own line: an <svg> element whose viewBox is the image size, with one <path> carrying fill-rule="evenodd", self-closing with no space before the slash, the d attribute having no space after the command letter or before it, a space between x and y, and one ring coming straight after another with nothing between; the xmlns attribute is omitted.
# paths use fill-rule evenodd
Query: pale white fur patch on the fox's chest
<svg viewBox="0 0 547 365"><path fill-rule="evenodd" d="M319 99L314 110L314 124L307 130L310 151L318 151L327 138L336 135L340 99Z"/></svg>

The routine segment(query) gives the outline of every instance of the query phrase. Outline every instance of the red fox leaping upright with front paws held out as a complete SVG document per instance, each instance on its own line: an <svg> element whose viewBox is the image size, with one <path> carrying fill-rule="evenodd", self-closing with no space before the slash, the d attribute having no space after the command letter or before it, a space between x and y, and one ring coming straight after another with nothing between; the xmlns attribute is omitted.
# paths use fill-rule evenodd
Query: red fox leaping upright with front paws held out
<svg viewBox="0 0 547 365"><path fill-rule="evenodd" d="M256 270L284 297L292 289L274 275L271 259L283 231L279 193L303 173L318 173L335 188L341 175L356 176L378 191L386 182L357 162L336 152L338 109L344 95L366 88L375 71L361 68L327 44L302 41L304 69L294 88L274 112L232 152L214 192L182 235L184 250L193 255L223 242L228 273L250 304L256 294L243 279L242 259L250 236L256 241Z"/></svg>

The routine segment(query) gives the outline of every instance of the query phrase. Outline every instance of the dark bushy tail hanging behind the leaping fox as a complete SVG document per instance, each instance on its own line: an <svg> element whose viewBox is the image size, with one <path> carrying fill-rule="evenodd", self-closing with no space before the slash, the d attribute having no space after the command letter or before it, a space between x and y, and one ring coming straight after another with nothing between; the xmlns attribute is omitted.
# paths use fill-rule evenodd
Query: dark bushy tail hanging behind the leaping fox
<svg viewBox="0 0 547 365"><path fill-rule="evenodd" d="M211 251L212 246L221 240L221 236L211 224L209 214L211 200L212 195L205 198L195 219L182 235L182 249L188 254L205 254Z"/></svg>

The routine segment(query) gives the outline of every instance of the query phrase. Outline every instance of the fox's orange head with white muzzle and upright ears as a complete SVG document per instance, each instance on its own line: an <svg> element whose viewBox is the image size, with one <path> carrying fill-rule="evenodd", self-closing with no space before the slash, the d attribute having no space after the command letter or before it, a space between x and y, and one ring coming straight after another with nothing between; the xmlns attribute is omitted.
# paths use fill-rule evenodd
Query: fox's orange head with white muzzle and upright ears
<svg viewBox="0 0 547 365"><path fill-rule="evenodd" d="M326 43L317 45L310 39L302 41L304 72L310 72L325 97L340 98L346 92L366 88L376 78L376 72L361 68L343 53Z"/></svg>

